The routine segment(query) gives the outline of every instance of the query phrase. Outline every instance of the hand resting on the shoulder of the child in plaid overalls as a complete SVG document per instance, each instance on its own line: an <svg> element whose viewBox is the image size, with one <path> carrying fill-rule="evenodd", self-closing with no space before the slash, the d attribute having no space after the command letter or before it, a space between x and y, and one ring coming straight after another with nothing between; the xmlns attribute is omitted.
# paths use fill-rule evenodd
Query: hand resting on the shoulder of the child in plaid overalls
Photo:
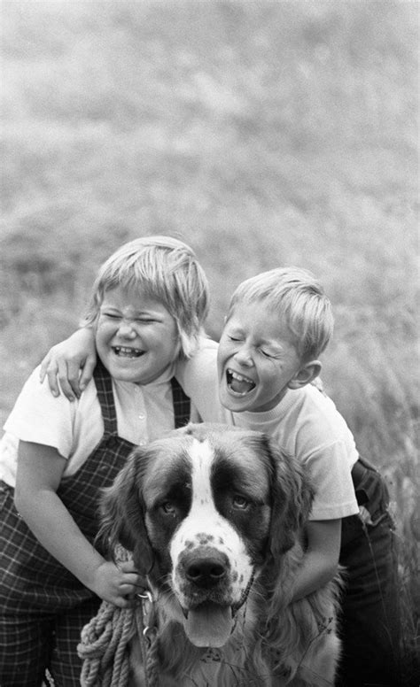
<svg viewBox="0 0 420 687"><path fill-rule="evenodd" d="M41 363L40 380L48 377L51 393L59 396L61 390L69 401L80 398L90 381L97 364L95 334L92 328L77 329L60 344L52 346ZM82 374L81 374L82 373Z"/></svg>

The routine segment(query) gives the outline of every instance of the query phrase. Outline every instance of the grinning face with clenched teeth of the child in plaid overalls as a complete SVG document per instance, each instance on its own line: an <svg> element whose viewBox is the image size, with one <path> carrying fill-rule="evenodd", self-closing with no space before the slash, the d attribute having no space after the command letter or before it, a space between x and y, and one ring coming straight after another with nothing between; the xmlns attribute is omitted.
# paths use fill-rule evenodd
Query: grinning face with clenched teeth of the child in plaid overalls
<svg viewBox="0 0 420 687"><path fill-rule="evenodd" d="M178 329L159 300L142 289L105 291L96 330L97 353L121 382L149 384L177 357Z"/></svg>

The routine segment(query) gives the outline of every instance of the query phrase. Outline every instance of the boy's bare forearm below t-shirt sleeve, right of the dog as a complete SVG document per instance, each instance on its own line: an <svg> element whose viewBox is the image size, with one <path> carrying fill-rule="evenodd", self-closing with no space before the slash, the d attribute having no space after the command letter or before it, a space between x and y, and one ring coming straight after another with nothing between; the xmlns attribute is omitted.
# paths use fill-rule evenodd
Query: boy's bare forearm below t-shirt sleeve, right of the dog
<svg viewBox="0 0 420 687"><path fill-rule="evenodd" d="M341 544L341 520L309 521L307 551L293 586L293 601L307 597L336 575Z"/></svg>

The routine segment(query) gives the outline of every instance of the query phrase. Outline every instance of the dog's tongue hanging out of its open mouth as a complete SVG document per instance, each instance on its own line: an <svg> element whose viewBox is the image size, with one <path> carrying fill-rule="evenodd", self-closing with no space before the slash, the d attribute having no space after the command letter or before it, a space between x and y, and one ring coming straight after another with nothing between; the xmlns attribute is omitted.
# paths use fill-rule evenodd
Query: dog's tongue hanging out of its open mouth
<svg viewBox="0 0 420 687"><path fill-rule="evenodd" d="M232 623L232 611L229 606L218 606L208 601L191 609L184 621L184 627L191 644L217 648L228 641Z"/></svg>

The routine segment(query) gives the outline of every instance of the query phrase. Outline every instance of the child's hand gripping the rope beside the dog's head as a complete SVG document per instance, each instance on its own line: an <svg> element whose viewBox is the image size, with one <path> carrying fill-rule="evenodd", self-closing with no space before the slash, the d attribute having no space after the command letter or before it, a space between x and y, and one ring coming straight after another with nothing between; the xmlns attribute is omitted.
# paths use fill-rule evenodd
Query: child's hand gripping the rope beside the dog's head
<svg viewBox="0 0 420 687"><path fill-rule="evenodd" d="M89 589L114 606L127 608L131 605L129 597L144 591L146 586L145 580L136 572L132 560L120 563L118 567L107 560L97 567Z"/></svg>

